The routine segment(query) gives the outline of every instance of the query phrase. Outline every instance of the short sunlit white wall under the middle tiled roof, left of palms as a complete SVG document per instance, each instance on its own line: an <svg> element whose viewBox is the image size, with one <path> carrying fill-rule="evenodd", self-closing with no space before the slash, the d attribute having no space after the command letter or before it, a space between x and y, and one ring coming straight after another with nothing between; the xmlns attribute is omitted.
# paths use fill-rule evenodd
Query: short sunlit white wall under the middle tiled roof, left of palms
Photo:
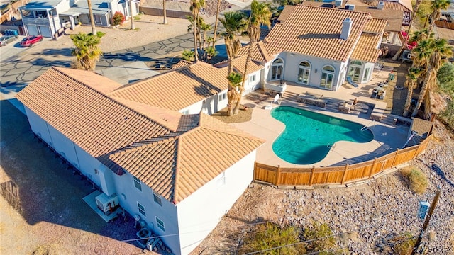
<svg viewBox="0 0 454 255"><path fill-rule="evenodd" d="M225 95L225 97L224 97ZM183 114L206 113L211 115L219 110L227 107L227 90L221 91L219 94L210 96L202 101L192 104L179 112Z"/></svg>

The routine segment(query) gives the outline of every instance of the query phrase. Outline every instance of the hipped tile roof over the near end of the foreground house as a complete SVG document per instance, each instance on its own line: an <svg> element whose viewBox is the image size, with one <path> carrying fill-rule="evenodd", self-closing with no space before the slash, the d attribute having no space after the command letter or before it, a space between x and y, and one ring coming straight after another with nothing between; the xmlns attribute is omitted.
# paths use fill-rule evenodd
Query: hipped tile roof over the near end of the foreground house
<svg viewBox="0 0 454 255"><path fill-rule="evenodd" d="M118 152L111 159L176 204L263 143L209 115L195 116L199 122L191 131Z"/></svg>

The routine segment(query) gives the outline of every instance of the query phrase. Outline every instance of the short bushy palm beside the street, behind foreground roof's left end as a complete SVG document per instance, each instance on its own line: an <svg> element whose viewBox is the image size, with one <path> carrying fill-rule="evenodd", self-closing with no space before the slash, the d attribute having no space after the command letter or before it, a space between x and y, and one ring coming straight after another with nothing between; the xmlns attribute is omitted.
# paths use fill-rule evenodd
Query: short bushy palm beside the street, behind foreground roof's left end
<svg viewBox="0 0 454 255"><path fill-rule="evenodd" d="M102 55L98 46L101 43L101 38L97 35L87 35L82 32L71 35L70 38L75 46L71 54L77 57L76 69L94 70L96 62Z"/></svg>

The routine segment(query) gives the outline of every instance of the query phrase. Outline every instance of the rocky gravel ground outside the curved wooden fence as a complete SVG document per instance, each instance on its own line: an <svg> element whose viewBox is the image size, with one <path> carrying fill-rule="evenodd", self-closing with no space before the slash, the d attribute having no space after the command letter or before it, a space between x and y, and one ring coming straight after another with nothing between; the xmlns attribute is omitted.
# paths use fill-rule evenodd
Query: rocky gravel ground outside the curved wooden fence
<svg viewBox="0 0 454 255"><path fill-rule="evenodd" d="M350 254L391 254L393 237L419 235L423 221L416 217L419 201L429 203L441 188L428 233L428 254L454 254L454 140L437 124L436 139L425 154L410 162L430 182L421 195L408 188L399 172L362 186L342 189L282 190L253 183L218 227L192 254L236 254L255 222L276 222L304 228L312 221L326 222Z"/></svg>

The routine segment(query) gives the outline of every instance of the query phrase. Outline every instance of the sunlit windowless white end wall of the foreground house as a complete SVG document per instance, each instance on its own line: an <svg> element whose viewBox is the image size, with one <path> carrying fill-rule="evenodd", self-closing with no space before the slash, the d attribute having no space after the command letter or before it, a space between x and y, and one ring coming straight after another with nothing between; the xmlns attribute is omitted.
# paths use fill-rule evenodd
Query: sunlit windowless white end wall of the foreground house
<svg viewBox="0 0 454 255"><path fill-rule="evenodd" d="M223 174L216 176L177 204L182 254L200 244L253 181L255 154L256 150L224 171L225 184L218 183Z"/></svg>

